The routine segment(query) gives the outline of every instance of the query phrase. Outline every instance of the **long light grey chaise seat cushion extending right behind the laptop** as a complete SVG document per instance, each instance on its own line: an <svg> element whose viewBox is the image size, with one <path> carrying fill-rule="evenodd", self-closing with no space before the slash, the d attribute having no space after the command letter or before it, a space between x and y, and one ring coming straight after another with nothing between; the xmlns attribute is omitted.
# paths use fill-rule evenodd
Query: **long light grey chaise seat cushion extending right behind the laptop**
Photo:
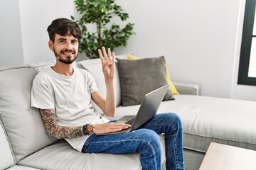
<svg viewBox="0 0 256 170"><path fill-rule="evenodd" d="M183 147L206 152L210 142L256 150L256 102L176 95L158 113L177 113L183 123ZM118 107L112 119L135 115L139 106Z"/></svg>

